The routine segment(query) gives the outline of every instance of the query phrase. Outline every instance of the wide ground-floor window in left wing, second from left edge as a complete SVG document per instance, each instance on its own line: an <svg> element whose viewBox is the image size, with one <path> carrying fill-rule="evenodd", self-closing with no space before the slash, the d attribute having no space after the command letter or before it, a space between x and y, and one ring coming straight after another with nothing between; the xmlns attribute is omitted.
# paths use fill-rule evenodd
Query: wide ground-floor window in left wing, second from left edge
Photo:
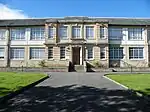
<svg viewBox="0 0 150 112"><path fill-rule="evenodd" d="M15 53L19 50L23 50L23 57L19 57L20 56L20 53L18 55L18 57L15 55ZM11 47L10 48L10 59L11 60L24 60L25 59L25 48L24 47Z"/></svg>

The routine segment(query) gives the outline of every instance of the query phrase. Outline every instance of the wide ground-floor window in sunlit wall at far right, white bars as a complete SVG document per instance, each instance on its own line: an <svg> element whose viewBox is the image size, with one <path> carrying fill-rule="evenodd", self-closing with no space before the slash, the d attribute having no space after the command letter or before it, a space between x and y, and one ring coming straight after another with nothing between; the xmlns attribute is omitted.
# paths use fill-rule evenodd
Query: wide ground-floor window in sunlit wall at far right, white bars
<svg viewBox="0 0 150 112"><path fill-rule="evenodd" d="M143 47L130 47L129 59L143 59Z"/></svg>

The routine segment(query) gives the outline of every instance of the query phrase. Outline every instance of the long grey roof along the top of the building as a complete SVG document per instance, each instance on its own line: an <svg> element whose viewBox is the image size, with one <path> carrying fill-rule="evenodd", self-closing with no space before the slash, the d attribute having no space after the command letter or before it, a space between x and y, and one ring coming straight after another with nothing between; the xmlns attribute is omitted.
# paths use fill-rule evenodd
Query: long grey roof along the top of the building
<svg viewBox="0 0 150 112"><path fill-rule="evenodd" d="M0 20L0 26L26 26L26 25L44 25L45 23L55 22L106 22L110 25L150 25L148 18L109 18L109 17L64 17L64 18L32 18L32 19L9 19Z"/></svg>

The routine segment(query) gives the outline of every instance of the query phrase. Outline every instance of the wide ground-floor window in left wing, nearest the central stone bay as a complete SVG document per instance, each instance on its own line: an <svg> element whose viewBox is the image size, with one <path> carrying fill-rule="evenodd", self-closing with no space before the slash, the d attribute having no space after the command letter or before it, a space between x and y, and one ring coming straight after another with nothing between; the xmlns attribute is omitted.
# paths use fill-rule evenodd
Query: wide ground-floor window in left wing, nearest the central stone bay
<svg viewBox="0 0 150 112"><path fill-rule="evenodd" d="M45 54L44 48L30 48L31 59L42 59L44 58L44 54Z"/></svg>

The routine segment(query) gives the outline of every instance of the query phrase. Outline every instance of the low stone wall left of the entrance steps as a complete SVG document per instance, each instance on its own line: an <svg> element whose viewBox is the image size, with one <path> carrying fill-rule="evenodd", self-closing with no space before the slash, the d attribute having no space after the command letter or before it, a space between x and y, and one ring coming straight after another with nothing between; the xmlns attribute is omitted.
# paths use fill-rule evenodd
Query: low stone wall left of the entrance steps
<svg viewBox="0 0 150 112"><path fill-rule="evenodd" d="M68 66L66 67L44 67L44 68L33 68L33 67L1 67L0 71L23 71L23 72L68 72Z"/></svg>

